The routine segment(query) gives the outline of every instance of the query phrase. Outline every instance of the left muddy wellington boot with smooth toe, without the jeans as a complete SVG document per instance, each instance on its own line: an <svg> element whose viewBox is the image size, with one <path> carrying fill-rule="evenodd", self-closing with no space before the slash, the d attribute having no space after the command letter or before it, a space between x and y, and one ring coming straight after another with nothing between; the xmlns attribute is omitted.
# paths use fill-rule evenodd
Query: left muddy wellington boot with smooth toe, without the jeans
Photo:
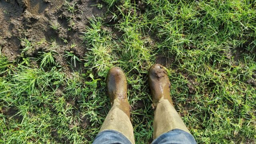
<svg viewBox="0 0 256 144"><path fill-rule="evenodd" d="M126 136L132 144L135 144L130 121L130 106L127 99L127 82L121 68L114 67L108 72L107 90L111 109L100 128L100 132L104 130L118 131Z"/></svg>

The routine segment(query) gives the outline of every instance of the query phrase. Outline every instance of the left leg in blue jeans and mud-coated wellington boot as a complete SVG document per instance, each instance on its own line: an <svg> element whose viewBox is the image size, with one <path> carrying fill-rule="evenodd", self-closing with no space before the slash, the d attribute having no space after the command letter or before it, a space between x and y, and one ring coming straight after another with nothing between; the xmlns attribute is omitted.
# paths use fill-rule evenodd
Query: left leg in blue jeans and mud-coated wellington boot
<svg viewBox="0 0 256 144"><path fill-rule="evenodd" d="M127 99L127 82L124 72L111 68L107 77L108 96L111 109L104 120L94 144L135 144L132 123L130 122L130 106ZM125 141L126 140L126 141Z"/></svg>

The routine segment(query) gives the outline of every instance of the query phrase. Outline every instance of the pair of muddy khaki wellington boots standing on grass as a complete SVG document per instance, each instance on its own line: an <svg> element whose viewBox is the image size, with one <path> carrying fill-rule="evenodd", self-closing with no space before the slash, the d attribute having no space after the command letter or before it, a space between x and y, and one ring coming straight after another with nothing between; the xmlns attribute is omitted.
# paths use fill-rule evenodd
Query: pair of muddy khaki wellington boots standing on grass
<svg viewBox="0 0 256 144"><path fill-rule="evenodd" d="M190 133L173 107L170 97L170 80L166 68L160 64L151 66L148 72L148 82L154 107L154 139L176 128ZM110 69L107 77L107 90L112 107L100 128L100 132L116 130L126 136L132 144L135 144L130 121L126 76L122 69L118 67Z"/></svg>

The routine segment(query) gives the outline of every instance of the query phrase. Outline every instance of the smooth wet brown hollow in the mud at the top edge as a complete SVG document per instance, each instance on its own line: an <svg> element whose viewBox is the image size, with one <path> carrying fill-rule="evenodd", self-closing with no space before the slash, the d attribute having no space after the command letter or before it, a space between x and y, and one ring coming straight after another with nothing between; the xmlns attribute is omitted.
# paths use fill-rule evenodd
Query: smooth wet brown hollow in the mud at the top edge
<svg viewBox="0 0 256 144"><path fill-rule="evenodd" d="M40 14L44 12L48 4L44 2L43 0L25 0L25 5L27 7L27 10L31 14Z"/></svg>

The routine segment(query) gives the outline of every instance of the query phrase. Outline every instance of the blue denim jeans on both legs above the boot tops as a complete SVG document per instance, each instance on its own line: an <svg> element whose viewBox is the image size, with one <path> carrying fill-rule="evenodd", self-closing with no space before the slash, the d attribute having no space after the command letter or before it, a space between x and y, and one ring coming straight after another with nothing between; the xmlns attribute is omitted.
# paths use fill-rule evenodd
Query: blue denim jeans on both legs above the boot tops
<svg viewBox="0 0 256 144"><path fill-rule="evenodd" d="M131 144L131 142L120 132L105 130L96 136L92 144ZM174 129L160 135L152 144L196 144L196 140L188 132Z"/></svg>

